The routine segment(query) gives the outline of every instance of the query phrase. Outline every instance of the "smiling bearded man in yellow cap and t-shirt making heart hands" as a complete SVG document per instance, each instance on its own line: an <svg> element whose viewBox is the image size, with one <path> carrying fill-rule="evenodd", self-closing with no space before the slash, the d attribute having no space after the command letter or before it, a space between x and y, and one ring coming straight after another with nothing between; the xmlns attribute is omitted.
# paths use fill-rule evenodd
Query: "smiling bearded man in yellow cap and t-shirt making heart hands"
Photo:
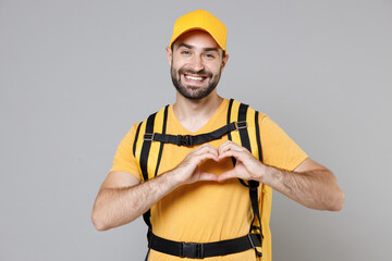
<svg viewBox="0 0 392 261"><path fill-rule="evenodd" d="M175 22L167 57L176 101L133 125L97 196L99 231L150 213L149 260L271 260L270 188L308 208L342 209L328 169L267 115L218 96L225 36L204 10Z"/></svg>

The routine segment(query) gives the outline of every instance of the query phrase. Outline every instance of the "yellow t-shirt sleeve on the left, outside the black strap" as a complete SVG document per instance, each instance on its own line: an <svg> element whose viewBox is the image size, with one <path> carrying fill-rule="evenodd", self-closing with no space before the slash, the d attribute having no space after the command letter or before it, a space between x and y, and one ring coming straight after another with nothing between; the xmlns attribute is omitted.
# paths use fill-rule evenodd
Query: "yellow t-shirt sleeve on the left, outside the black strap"
<svg viewBox="0 0 392 261"><path fill-rule="evenodd" d="M135 140L136 127L137 124L134 124L127 132L125 137L121 140L115 151L113 165L110 169L110 172L126 172L142 181L137 160L133 154L133 144Z"/></svg>

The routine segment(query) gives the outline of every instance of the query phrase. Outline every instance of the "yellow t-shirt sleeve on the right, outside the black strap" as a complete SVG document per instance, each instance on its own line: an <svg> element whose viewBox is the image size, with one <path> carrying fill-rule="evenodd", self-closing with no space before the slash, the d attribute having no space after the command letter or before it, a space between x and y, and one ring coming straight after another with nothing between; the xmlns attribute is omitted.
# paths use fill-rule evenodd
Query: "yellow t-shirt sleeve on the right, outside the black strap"
<svg viewBox="0 0 392 261"><path fill-rule="evenodd" d="M260 114L260 140L264 163L293 171L308 156L269 116Z"/></svg>

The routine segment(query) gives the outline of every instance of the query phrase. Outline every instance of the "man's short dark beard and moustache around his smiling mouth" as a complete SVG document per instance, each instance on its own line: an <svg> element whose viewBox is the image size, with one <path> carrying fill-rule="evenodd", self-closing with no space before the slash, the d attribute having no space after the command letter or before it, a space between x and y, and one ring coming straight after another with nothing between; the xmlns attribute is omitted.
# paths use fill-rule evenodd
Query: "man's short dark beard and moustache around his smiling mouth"
<svg viewBox="0 0 392 261"><path fill-rule="evenodd" d="M171 65L170 67L170 74L175 89L183 97L191 100L199 100L209 96L209 94L211 94L212 90L215 90L215 88L217 87L221 72L222 72L222 67L219 70L219 73L216 75L213 75L211 72L206 70L195 72L191 69L184 69L184 67L177 71L173 67L173 65ZM207 87L192 86L192 85L184 86L183 83L181 82L181 75L183 74L192 74L192 75L208 77L209 78L208 86Z"/></svg>

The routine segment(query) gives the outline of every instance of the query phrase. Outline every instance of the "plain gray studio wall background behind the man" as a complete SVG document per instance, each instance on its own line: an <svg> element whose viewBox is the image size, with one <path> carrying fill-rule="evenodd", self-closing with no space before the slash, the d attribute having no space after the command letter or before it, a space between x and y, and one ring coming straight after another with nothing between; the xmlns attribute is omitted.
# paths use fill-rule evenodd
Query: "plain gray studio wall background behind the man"
<svg viewBox="0 0 392 261"><path fill-rule="evenodd" d="M142 260L140 219L90 211L134 122L174 101L164 47L206 9L229 28L219 94L269 114L346 195L338 213L273 194L273 259L387 260L392 2L0 0L0 260Z"/></svg>

